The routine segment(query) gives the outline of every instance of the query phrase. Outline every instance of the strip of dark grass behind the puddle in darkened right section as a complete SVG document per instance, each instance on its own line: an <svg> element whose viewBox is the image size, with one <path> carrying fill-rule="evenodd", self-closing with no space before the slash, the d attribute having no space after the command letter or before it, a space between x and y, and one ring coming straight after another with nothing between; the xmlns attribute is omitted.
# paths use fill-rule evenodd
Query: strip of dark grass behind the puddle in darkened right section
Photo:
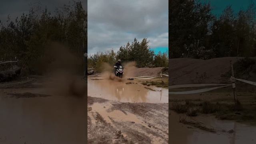
<svg viewBox="0 0 256 144"><path fill-rule="evenodd" d="M198 116L198 114L213 114L220 120L236 120L238 122L256 121L256 105L240 104L236 106L228 103L218 102L194 102L183 100L171 102L170 110L187 116Z"/></svg>

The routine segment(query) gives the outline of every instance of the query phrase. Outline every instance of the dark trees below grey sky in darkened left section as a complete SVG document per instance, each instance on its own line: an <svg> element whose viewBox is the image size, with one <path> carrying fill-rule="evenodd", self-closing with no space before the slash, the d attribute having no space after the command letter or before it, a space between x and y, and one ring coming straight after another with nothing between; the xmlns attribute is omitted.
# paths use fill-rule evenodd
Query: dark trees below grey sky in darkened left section
<svg viewBox="0 0 256 144"><path fill-rule="evenodd" d="M13 60L16 56L28 73L38 73L37 62L45 57L52 42L68 46L82 64L83 53L87 50L87 12L82 2L64 4L53 14L47 7L41 10L38 4L15 21L10 16L6 22L0 21L1 60Z"/></svg>

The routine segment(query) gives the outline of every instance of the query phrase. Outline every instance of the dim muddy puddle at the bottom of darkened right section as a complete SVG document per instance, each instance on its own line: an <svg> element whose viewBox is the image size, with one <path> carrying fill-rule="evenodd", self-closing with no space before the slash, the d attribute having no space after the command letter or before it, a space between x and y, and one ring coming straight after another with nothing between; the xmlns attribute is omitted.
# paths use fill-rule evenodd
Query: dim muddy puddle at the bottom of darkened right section
<svg viewBox="0 0 256 144"><path fill-rule="evenodd" d="M184 115L171 112L169 117L169 140L172 144L255 144L256 126L234 121L217 120L214 116L197 116L193 120L201 122L216 133L207 132L179 122ZM187 119L189 119L187 117ZM234 132L228 132L234 130Z"/></svg>

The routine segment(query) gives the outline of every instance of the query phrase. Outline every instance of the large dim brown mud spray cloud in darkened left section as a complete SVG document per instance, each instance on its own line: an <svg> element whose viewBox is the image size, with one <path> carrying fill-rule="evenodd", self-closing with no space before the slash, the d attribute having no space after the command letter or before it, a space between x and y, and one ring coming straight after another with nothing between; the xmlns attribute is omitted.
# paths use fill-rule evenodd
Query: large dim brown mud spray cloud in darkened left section
<svg viewBox="0 0 256 144"><path fill-rule="evenodd" d="M82 80L82 60L61 44L54 43L46 51L44 85L56 95L84 97L87 84Z"/></svg>

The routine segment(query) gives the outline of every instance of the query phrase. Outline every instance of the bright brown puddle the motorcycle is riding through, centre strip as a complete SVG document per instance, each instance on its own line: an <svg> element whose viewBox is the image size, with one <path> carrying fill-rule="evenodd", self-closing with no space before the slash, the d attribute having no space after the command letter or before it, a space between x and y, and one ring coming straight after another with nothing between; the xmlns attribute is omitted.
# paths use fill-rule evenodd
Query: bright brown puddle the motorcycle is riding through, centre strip
<svg viewBox="0 0 256 144"><path fill-rule="evenodd" d="M134 80L88 78L88 96L120 102L168 103L168 89L144 86Z"/></svg>

